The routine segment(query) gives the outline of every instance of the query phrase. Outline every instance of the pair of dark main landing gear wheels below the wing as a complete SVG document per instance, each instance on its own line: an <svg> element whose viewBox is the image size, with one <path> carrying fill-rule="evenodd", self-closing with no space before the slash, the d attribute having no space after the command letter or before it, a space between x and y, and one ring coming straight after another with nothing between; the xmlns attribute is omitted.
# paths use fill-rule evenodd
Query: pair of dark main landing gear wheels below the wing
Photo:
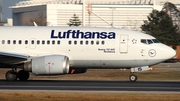
<svg viewBox="0 0 180 101"><path fill-rule="evenodd" d="M20 81L26 81L29 78L29 72L20 70L19 72L16 69L12 69L6 72L6 80L15 81L19 78Z"/></svg>

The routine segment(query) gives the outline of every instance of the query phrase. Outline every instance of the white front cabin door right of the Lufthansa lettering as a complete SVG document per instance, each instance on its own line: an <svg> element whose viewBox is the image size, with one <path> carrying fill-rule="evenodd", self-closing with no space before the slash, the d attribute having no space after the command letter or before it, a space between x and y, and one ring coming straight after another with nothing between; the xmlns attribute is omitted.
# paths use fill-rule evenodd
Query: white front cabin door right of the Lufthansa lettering
<svg viewBox="0 0 180 101"><path fill-rule="evenodd" d="M128 52L128 35L120 36L120 53Z"/></svg>

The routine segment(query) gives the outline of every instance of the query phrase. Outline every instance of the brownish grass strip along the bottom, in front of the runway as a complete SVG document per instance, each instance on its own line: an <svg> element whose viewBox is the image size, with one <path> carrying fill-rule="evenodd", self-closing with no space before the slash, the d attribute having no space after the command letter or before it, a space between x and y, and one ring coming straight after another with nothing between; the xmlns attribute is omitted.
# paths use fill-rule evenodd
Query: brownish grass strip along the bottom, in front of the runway
<svg viewBox="0 0 180 101"><path fill-rule="evenodd" d="M0 101L179 101L180 94L0 92Z"/></svg>

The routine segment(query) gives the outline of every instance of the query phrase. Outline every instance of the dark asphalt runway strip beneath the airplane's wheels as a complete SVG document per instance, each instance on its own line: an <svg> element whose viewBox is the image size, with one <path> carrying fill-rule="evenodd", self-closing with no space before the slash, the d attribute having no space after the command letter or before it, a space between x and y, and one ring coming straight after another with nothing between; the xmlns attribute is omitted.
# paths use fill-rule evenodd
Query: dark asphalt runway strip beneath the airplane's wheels
<svg viewBox="0 0 180 101"><path fill-rule="evenodd" d="M0 80L0 90L180 91L180 81Z"/></svg>

